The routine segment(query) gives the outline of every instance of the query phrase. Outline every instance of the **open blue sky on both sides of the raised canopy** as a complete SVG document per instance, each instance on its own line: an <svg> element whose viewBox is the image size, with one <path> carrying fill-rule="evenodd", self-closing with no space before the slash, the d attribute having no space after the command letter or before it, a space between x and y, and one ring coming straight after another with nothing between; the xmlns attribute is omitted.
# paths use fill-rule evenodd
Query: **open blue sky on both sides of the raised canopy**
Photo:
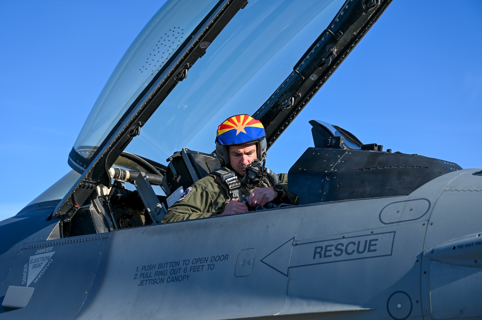
<svg viewBox="0 0 482 320"><path fill-rule="evenodd" d="M162 1L0 0L0 220L66 174L110 73ZM482 2L394 0L268 155L287 172L308 120L364 143L481 167Z"/></svg>

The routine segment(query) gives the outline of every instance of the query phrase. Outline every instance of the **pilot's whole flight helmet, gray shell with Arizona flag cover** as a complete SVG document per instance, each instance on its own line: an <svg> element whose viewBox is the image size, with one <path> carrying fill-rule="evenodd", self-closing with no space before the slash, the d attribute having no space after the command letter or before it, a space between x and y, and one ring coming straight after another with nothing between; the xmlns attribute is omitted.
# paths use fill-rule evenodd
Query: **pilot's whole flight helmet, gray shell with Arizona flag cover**
<svg viewBox="0 0 482 320"><path fill-rule="evenodd" d="M233 115L217 127L216 154L222 166L229 165L229 146L256 145L257 158L266 158L266 133L261 121L249 115Z"/></svg>

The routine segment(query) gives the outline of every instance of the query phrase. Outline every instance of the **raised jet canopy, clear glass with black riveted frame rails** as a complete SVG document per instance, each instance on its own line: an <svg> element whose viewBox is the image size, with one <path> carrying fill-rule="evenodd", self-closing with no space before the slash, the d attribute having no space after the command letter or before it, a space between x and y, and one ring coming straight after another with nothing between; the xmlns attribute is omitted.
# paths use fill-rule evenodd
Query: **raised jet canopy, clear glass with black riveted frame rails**
<svg viewBox="0 0 482 320"><path fill-rule="evenodd" d="M166 2L124 54L81 129L68 160L82 177L57 213L70 210L69 196L85 183L110 185L108 168L124 150L159 164L183 147L211 152L215 128L234 114L261 120L269 147L389 3Z"/></svg>

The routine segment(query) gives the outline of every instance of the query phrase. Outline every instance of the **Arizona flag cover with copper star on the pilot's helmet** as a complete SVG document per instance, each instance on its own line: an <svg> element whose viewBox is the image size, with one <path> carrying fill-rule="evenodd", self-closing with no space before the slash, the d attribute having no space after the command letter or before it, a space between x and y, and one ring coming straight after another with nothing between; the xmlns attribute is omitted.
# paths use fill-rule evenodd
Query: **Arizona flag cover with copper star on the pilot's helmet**
<svg viewBox="0 0 482 320"><path fill-rule="evenodd" d="M216 139L221 145L241 145L265 136L261 121L249 115L233 115L217 128Z"/></svg>

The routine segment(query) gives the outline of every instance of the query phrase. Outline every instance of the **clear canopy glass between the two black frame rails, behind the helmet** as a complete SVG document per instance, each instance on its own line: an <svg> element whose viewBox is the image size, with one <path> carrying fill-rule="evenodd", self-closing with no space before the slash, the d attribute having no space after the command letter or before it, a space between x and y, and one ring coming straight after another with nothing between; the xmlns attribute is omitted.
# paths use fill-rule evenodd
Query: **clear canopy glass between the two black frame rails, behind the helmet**
<svg viewBox="0 0 482 320"><path fill-rule="evenodd" d="M126 151L160 163L183 147L212 152L217 126L231 115L254 114L344 2L250 0Z"/></svg>

